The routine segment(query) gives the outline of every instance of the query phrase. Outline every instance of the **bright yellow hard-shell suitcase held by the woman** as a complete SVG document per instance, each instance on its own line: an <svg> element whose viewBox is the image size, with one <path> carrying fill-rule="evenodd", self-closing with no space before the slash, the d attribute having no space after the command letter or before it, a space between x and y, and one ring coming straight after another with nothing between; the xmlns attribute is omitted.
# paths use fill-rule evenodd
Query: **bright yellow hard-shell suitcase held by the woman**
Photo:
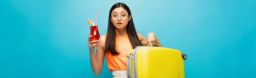
<svg viewBox="0 0 256 78"><path fill-rule="evenodd" d="M180 50L138 46L127 57L128 78L185 78L187 56Z"/></svg>

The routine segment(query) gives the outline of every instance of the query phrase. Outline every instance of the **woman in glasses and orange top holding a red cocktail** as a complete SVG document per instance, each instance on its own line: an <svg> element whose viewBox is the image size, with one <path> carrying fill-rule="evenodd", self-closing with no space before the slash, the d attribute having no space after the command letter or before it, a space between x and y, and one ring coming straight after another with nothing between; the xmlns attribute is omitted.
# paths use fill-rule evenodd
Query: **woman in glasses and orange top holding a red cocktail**
<svg viewBox="0 0 256 78"><path fill-rule="evenodd" d="M103 68L104 56L108 64L108 69L113 74L113 78L127 78L126 60L129 51L137 46L159 45L159 40L154 33L148 33L146 39L137 33L132 20L131 11L124 3L114 4L109 11L108 33L101 36L99 40L90 41L90 61L95 75L99 75ZM94 53L93 47L97 45L99 49Z"/></svg>

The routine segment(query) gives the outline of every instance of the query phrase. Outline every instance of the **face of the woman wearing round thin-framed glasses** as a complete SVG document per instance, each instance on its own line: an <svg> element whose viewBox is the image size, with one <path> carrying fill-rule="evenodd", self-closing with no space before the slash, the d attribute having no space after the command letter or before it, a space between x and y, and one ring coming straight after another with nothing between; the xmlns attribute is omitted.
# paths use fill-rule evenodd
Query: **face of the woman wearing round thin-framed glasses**
<svg viewBox="0 0 256 78"><path fill-rule="evenodd" d="M128 12L125 8L119 7L111 12L110 20L116 28L125 28L128 21L131 20L131 16L128 17Z"/></svg>

